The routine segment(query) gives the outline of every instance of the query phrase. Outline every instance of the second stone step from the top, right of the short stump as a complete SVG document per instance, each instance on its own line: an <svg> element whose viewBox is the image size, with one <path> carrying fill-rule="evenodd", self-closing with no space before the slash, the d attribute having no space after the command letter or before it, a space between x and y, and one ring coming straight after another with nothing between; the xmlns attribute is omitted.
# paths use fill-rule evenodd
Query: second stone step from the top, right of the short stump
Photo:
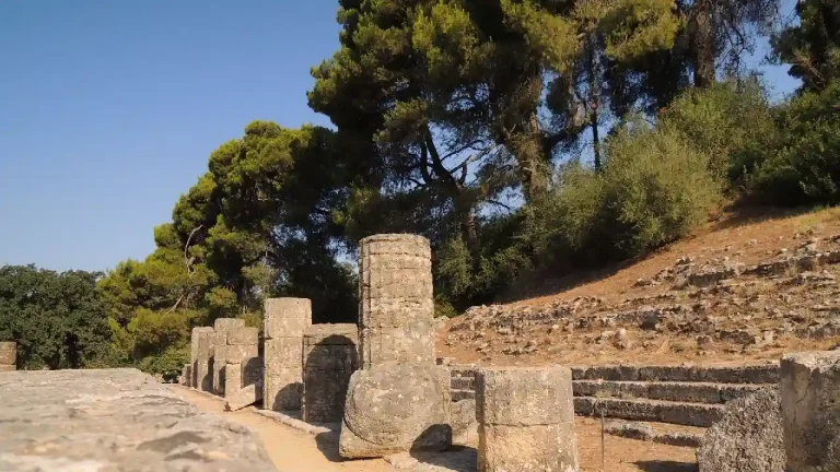
<svg viewBox="0 0 840 472"><path fill-rule="evenodd" d="M651 399L693 403L726 403L766 388L760 384L574 380L575 397Z"/></svg>

